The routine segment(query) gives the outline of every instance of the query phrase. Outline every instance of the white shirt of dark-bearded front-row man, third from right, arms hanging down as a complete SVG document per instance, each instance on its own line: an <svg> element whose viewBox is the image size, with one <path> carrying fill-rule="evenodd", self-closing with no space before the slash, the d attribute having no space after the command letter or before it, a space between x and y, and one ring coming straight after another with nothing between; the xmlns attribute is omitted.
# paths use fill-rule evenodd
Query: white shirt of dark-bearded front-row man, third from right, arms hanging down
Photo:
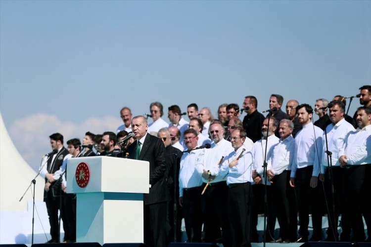
<svg viewBox="0 0 371 247"><path fill-rule="evenodd" d="M319 161L322 159L322 135L324 131L309 123L295 136L295 151L291 166L290 177L296 176L296 169L313 165L312 175L320 174Z"/></svg>

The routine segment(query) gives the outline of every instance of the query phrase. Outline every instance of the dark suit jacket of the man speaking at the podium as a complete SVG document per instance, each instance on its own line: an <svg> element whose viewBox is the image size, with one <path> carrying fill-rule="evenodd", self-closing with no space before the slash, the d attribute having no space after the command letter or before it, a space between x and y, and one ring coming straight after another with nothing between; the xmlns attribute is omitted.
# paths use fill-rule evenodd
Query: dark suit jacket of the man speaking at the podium
<svg viewBox="0 0 371 247"><path fill-rule="evenodd" d="M137 141L129 147L129 159L135 160ZM166 202L170 200L169 191L165 181L165 145L157 137L147 133L141 147L140 161L149 162L149 194L144 194L144 205Z"/></svg>

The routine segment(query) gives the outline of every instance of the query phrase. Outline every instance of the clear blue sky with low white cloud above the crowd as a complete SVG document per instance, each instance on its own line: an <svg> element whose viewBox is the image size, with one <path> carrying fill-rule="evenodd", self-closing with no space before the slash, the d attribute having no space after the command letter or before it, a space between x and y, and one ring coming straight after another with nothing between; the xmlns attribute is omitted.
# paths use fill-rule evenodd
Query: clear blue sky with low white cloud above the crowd
<svg viewBox="0 0 371 247"><path fill-rule="evenodd" d="M35 169L50 134L115 131L123 106L160 101L169 122L173 104L216 116L255 95L261 112L278 93L284 110L366 84L370 0L0 0L0 111Z"/></svg>

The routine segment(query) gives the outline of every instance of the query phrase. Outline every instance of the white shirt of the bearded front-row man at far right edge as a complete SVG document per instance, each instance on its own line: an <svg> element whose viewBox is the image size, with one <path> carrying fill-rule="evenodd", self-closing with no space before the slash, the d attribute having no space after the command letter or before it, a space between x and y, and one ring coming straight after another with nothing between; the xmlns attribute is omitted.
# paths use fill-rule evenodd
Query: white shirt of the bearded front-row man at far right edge
<svg viewBox="0 0 371 247"><path fill-rule="evenodd" d="M371 125L350 132L345 142L344 155L348 156L348 165L371 164Z"/></svg>

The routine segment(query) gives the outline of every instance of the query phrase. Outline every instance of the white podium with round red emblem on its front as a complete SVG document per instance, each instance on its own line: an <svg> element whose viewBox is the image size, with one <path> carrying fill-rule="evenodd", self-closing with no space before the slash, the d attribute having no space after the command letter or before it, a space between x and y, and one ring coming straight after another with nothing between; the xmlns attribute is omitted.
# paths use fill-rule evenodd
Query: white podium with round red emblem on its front
<svg viewBox="0 0 371 247"><path fill-rule="evenodd" d="M143 243L149 163L96 156L67 161L67 193L77 194L76 242Z"/></svg>

